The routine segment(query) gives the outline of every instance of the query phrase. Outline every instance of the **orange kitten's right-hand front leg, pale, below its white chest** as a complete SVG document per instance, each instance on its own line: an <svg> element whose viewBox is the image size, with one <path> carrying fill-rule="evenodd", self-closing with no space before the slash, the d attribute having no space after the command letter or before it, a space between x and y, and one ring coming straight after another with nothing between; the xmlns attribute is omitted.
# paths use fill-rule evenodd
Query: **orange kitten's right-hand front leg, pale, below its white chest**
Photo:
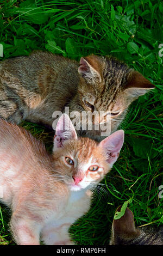
<svg viewBox="0 0 163 256"><path fill-rule="evenodd" d="M48 225L42 232L41 240L45 245L74 245L70 240L68 229L70 224L63 224L60 227L50 227Z"/></svg>

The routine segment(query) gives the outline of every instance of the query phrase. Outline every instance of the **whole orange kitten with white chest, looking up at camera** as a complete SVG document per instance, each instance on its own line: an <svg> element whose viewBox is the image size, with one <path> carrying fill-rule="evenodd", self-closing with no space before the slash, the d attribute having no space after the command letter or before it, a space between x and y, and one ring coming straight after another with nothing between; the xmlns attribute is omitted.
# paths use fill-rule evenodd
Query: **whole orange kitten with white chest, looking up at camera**
<svg viewBox="0 0 163 256"><path fill-rule="evenodd" d="M29 132L2 119L0 138L0 198L12 210L16 243L39 245L41 239L46 245L72 245L68 229L89 210L90 189L116 162L124 132L101 143L78 138L63 114L52 155Z"/></svg>

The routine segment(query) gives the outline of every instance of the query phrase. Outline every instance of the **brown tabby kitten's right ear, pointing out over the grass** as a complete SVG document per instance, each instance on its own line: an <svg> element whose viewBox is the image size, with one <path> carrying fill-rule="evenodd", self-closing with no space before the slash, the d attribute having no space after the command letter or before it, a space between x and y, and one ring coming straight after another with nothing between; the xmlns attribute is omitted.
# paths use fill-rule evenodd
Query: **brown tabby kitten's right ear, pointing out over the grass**
<svg viewBox="0 0 163 256"><path fill-rule="evenodd" d="M141 75L137 71L133 71L131 73L131 78L129 79L126 87L124 88L124 93L128 97L133 97L133 100L135 100L139 96L147 93L150 89L154 88L155 86L143 75Z"/></svg>

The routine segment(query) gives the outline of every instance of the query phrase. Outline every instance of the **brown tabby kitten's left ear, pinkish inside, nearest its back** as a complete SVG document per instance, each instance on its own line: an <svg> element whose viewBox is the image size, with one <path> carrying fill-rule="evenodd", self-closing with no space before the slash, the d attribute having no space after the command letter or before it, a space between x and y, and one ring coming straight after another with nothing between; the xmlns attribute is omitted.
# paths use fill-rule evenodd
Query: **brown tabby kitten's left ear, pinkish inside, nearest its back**
<svg viewBox="0 0 163 256"><path fill-rule="evenodd" d="M92 54L90 56L80 58L78 73L89 83L95 83L96 81L101 82L102 72L99 57Z"/></svg>

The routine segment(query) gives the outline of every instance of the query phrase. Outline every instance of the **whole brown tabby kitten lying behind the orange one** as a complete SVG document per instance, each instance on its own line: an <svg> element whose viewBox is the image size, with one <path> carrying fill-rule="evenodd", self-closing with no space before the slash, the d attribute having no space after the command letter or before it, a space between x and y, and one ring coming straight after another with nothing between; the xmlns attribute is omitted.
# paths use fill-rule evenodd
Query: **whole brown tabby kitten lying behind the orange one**
<svg viewBox="0 0 163 256"><path fill-rule="evenodd" d="M93 120L92 131L79 135L98 138L97 124L109 117L111 133L121 124L128 106L154 86L139 72L113 57L90 55L75 60L50 52L0 63L0 116L19 124L27 119L52 126L54 111L104 113ZM87 128L86 128L87 130Z"/></svg>

